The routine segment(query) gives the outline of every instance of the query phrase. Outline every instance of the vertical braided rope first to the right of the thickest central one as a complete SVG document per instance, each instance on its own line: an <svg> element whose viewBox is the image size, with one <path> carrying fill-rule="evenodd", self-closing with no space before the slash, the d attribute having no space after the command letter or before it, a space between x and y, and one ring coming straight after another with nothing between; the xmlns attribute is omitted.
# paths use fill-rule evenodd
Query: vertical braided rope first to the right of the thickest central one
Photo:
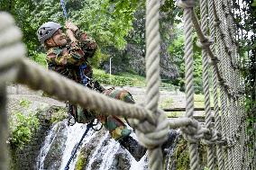
<svg viewBox="0 0 256 170"><path fill-rule="evenodd" d="M193 117L194 113L194 87L193 87L193 41L192 41L192 13L195 6L194 0L178 1L178 6L184 9L184 33L185 33L185 81L186 81L186 116ZM183 134L185 137L186 133ZM193 138L193 137L192 137ZM188 137L187 137L188 139ZM197 139L188 140L190 169L198 168Z"/></svg>

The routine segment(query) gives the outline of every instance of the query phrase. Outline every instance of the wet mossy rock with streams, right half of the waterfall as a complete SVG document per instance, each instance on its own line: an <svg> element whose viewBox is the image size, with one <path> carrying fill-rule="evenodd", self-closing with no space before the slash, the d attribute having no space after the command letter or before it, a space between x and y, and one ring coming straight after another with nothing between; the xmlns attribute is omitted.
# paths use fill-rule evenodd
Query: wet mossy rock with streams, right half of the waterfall
<svg viewBox="0 0 256 170"><path fill-rule="evenodd" d="M82 160L84 159L84 160ZM77 169L130 169L131 155L120 147L114 139L110 139L106 130L96 132L93 139L81 148ZM80 164L80 163L83 164Z"/></svg>

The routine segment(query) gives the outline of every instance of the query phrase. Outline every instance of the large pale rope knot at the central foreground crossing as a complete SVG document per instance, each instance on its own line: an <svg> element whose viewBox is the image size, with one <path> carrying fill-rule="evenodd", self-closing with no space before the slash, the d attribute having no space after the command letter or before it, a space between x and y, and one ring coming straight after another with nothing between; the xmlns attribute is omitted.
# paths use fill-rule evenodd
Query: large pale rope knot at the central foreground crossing
<svg viewBox="0 0 256 170"><path fill-rule="evenodd" d="M158 110L155 118L157 119L155 125L149 121L129 120L139 142L146 148L158 148L168 139L169 121L166 114Z"/></svg>

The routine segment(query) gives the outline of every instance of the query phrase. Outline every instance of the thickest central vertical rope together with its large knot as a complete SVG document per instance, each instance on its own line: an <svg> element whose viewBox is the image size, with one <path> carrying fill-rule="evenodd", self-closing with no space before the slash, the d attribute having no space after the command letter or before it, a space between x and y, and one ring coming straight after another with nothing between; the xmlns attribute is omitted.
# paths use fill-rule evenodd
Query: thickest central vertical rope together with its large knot
<svg viewBox="0 0 256 170"><path fill-rule="evenodd" d="M156 127L149 128L147 122L140 122L136 134L143 146L148 148L150 169L161 169L162 151L160 146L167 139L169 121L164 112L158 111L160 98L160 1L147 0L146 4L146 101L145 108L158 118Z"/></svg>

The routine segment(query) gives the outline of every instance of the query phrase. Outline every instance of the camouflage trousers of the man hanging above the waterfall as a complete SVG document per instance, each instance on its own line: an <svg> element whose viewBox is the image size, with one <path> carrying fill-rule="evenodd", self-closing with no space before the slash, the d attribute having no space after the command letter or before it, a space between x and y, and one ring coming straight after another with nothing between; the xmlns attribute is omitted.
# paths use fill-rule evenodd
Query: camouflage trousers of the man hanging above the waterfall
<svg viewBox="0 0 256 170"><path fill-rule="evenodd" d="M110 88L105 90L103 94L126 103L134 103L132 94L126 90ZM125 125L124 118L114 115L105 115L102 113L91 112L74 105L73 108L74 111L77 112L77 118L75 117L76 121L79 123L87 123L97 119L104 125L105 129L109 130L111 137L115 140L123 139L124 137L129 136L132 132L132 130L128 130L127 126Z"/></svg>

